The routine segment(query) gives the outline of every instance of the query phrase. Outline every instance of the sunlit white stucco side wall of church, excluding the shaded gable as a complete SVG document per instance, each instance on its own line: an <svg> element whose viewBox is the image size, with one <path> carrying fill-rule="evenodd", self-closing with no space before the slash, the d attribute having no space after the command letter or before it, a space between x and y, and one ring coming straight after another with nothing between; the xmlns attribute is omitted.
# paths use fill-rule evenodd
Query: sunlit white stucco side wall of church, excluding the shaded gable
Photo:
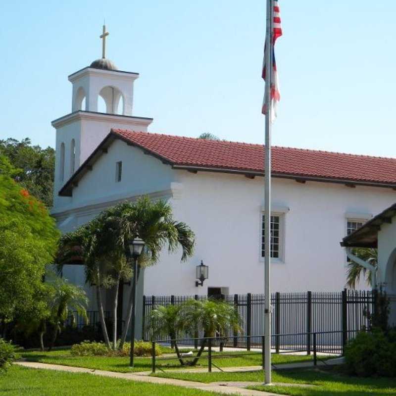
<svg viewBox="0 0 396 396"><path fill-rule="evenodd" d="M164 252L146 271L146 295L206 294L208 287L230 293L263 291L260 257L263 179L221 173L178 171L183 192L172 199L175 218L196 232L194 257ZM289 207L284 215L284 262L272 264L272 290L341 291L346 257L346 213L376 214L395 201L391 189L273 179L272 204ZM195 287L195 267L203 259L209 279ZM364 286L364 284L362 285Z"/></svg>

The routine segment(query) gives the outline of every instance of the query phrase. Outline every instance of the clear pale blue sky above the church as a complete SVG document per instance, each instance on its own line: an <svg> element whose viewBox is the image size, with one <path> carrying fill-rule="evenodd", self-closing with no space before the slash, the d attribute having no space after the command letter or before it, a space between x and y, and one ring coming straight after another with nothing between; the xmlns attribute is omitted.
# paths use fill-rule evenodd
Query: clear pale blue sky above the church
<svg viewBox="0 0 396 396"><path fill-rule="evenodd" d="M357 5L358 4L358 5ZM273 144L396 157L396 3L279 0ZM140 73L151 132L263 143L265 1L1 1L0 139L54 146L67 76L107 55Z"/></svg>

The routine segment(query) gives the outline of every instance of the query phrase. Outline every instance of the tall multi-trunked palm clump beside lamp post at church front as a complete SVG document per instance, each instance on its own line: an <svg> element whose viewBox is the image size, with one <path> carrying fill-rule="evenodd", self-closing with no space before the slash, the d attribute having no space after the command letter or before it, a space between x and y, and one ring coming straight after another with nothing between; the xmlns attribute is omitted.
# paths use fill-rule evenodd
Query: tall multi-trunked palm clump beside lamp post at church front
<svg viewBox="0 0 396 396"><path fill-rule="evenodd" d="M182 248L181 260L185 261L194 251L195 235L182 222L173 220L171 206L163 200L151 201L148 197L136 202L122 202L103 211L97 218L66 234L60 241L58 262L63 264L78 255L85 264L86 281L95 284L99 305L99 317L105 343L110 341L105 327L101 288L115 288L113 299L113 340L116 348L117 300L120 281L131 280L131 257L129 242L135 238L145 241L145 251L139 257L140 268L155 264L159 253L167 246L170 252ZM128 316L121 336L119 348L122 348L131 321L133 293L128 304Z"/></svg>

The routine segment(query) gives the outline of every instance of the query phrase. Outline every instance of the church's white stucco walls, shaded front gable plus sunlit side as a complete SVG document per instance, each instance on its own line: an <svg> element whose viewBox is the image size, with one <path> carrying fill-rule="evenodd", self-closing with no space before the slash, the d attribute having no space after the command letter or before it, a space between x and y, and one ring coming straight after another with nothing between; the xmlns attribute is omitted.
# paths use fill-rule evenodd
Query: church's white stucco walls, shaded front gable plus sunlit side
<svg viewBox="0 0 396 396"><path fill-rule="evenodd" d="M120 183L115 181L117 161L123 164ZM146 295L207 294L208 287L228 288L232 294L262 292L262 178L172 170L117 140L56 216L62 231L70 231L117 200L142 194L169 199L175 219L197 236L195 254L186 263L180 263L180 252L164 249L160 262L146 271ZM283 215L284 259L272 264L272 290L280 292L342 290L346 257L340 241L346 235L346 214L376 214L396 198L391 189L286 179L273 179L272 194L274 208L289 209ZM209 266L209 279L196 288L195 267L201 259Z"/></svg>

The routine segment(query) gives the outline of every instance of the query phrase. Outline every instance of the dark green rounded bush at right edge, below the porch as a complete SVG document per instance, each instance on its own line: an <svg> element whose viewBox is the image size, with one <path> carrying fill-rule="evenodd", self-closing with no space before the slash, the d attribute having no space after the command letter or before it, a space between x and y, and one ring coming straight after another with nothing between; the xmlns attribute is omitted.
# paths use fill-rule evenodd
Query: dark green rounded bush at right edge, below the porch
<svg viewBox="0 0 396 396"><path fill-rule="evenodd" d="M360 332L345 350L347 371L360 377L396 376L396 332Z"/></svg>

